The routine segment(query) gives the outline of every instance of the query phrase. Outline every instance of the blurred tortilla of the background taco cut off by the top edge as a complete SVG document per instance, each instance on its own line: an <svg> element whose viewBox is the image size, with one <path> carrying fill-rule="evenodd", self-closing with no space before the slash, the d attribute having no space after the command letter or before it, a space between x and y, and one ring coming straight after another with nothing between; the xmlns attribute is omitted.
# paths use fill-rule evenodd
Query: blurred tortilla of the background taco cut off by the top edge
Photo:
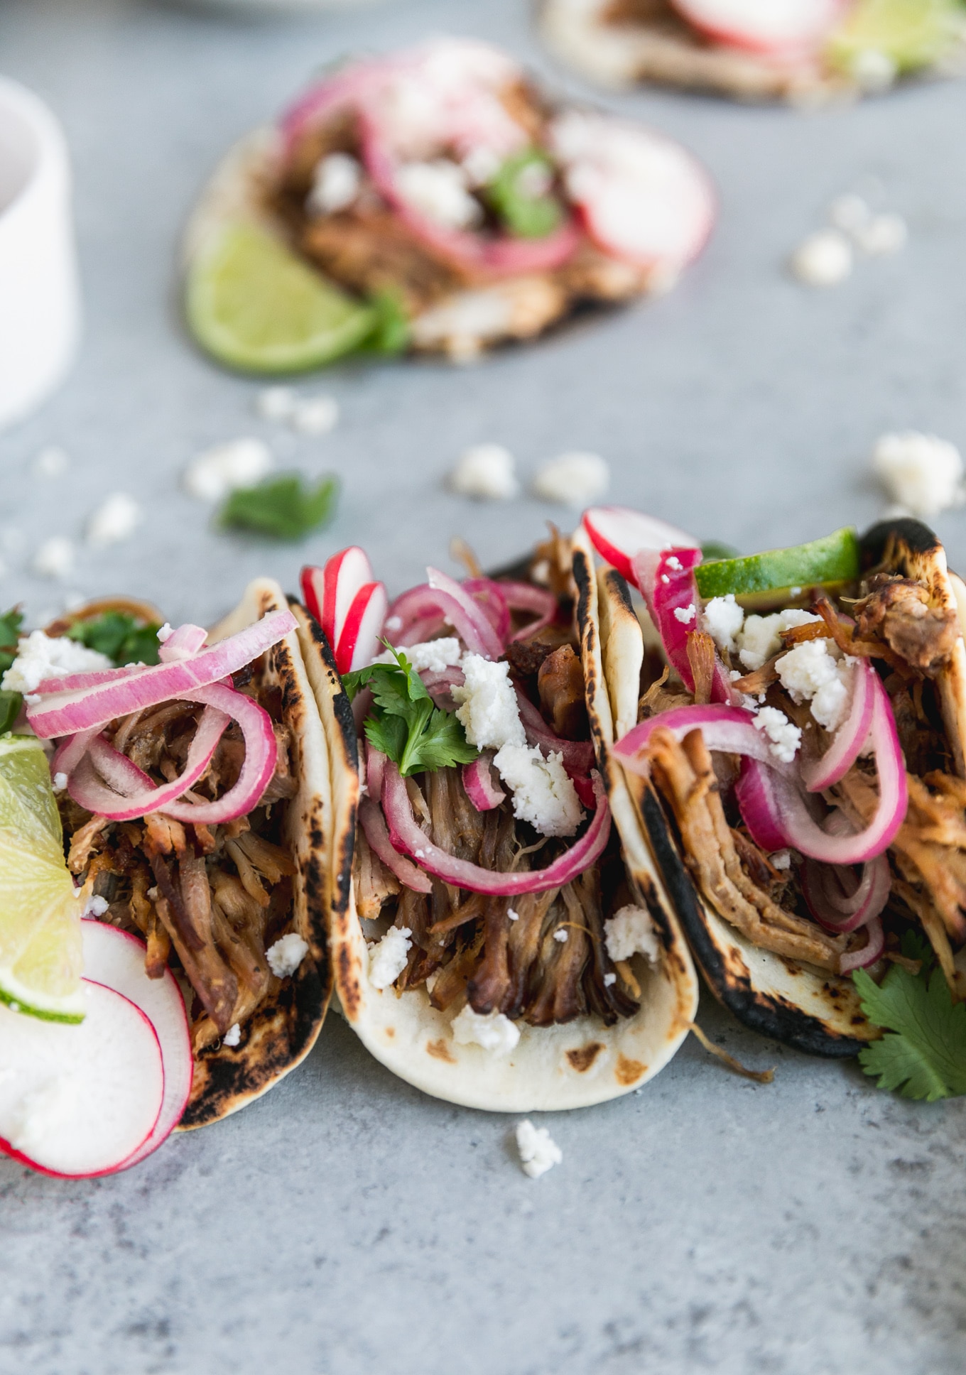
<svg viewBox="0 0 966 1375"><path fill-rule="evenodd" d="M670 0L544 0L539 25L561 62L605 87L654 82L735 100L806 106L878 89L874 70L863 88L820 58L776 62L707 40ZM944 66L952 69L956 58L962 62L962 44L951 41ZM923 63L916 74L938 70L940 65Z"/></svg>

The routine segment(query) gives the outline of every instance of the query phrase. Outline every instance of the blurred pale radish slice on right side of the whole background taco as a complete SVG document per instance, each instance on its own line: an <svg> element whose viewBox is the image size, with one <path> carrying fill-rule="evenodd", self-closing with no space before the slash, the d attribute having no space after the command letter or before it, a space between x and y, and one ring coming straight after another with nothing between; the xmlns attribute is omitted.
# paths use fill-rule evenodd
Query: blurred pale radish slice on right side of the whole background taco
<svg viewBox="0 0 966 1375"><path fill-rule="evenodd" d="M567 194L604 253L672 271L696 257L714 223L703 168L637 124L568 110L550 129Z"/></svg>

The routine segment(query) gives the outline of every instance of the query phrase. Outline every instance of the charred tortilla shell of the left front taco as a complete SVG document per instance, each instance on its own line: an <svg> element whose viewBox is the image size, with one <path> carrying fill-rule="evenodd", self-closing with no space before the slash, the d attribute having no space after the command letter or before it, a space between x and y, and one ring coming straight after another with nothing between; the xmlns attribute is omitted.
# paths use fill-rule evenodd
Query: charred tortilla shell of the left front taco
<svg viewBox="0 0 966 1375"><path fill-rule="evenodd" d="M249 584L235 610L209 632L209 644L286 606L278 584L259 579ZM144 622L155 616L146 604L113 598L83 608L51 626L50 632L59 634L77 620L118 610ZM332 989L325 921L332 872L329 751L294 631L261 657L255 675L259 694L277 700L275 720L289 740L289 767L296 784L293 795L281 803L285 815L279 840L293 864L290 908L272 939L294 932L305 940L308 952L294 974L268 979L257 1006L241 1020L237 1045L215 1038L213 1044L195 1048L191 1094L180 1130L206 1126L238 1111L296 1068L315 1042ZM190 1009L193 990L173 952L172 962Z"/></svg>

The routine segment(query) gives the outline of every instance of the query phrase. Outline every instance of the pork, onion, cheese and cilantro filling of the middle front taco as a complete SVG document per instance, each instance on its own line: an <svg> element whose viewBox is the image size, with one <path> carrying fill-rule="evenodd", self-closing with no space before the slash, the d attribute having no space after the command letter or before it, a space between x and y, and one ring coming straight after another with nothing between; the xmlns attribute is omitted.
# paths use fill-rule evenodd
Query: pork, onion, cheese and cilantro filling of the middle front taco
<svg viewBox="0 0 966 1375"><path fill-rule="evenodd" d="M352 883L369 980L424 989L455 1013L457 1042L498 1053L523 1023L633 1018L632 960L661 954L596 771L570 568L555 535L522 578L429 569L365 641L358 615L343 610L341 635L326 615L332 565L303 584L361 727Z"/></svg>

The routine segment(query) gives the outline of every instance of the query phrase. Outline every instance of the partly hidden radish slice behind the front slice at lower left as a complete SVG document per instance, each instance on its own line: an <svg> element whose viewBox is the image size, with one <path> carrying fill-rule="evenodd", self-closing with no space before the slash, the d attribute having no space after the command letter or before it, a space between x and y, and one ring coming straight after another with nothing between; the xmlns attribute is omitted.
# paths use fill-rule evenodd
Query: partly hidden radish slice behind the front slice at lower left
<svg viewBox="0 0 966 1375"><path fill-rule="evenodd" d="M194 1060L191 1035L182 990L171 969L160 979L144 974L144 942L103 921L81 921L84 974L139 1006L149 1019L161 1046L164 1101L154 1130L124 1162L125 1169L157 1151L182 1119L191 1092Z"/></svg>

